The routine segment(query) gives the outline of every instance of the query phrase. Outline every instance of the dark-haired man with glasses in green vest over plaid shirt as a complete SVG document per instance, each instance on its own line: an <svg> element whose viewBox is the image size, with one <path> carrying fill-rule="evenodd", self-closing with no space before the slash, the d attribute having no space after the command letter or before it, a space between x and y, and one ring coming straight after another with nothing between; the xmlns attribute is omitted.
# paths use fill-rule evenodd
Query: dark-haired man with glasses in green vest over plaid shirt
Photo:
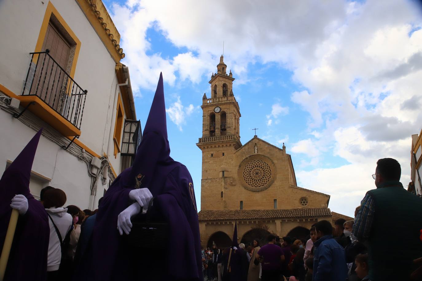
<svg viewBox="0 0 422 281"><path fill-rule="evenodd" d="M397 160L377 161L376 189L366 193L353 225L354 236L368 243L372 281L410 280L413 260L422 256L422 200L403 188L400 174ZM393 242L392 236L408 246Z"/></svg>

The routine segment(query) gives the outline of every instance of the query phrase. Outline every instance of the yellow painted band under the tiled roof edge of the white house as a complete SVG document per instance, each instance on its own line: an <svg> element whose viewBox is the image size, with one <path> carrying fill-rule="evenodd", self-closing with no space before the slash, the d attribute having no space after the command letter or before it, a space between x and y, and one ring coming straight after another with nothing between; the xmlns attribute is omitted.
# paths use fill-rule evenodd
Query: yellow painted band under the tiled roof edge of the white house
<svg viewBox="0 0 422 281"><path fill-rule="evenodd" d="M101 24L100 20L98 19L98 16L92 10L91 5L89 4L89 0L76 0L76 2L79 4L79 7L81 7L82 11L84 12L88 21L91 23L95 32L97 32L97 35L98 37L100 37L100 40L103 41L104 46L107 48L108 52L111 54L111 57L114 59L114 62L116 63L120 62L120 59L124 57L124 54L123 53L120 54L119 51L117 51L117 46L119 45L117 46L114 45L111 39L113 37L108 35L103 24Z"/></svg>

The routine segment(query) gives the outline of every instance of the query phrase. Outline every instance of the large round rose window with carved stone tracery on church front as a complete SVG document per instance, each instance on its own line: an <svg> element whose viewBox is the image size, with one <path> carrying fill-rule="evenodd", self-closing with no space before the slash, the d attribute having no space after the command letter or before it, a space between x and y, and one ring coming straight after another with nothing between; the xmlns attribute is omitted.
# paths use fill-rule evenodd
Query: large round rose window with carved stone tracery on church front
<svg viewBox="0 0 422 281"><path fill-rule="evenodd" d="M239 179L243 187L251 191L267 189L276 176L274 164L263 155L246 158L239 168Z"/></svg>

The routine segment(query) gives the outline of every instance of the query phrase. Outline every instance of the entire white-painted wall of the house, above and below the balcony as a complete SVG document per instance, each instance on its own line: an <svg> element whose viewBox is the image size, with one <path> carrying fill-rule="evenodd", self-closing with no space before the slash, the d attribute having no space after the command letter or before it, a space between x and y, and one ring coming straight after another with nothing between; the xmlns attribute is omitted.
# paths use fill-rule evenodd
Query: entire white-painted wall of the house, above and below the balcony
<svg viewBox="0 0 422 281"><path fill-rule="evenodd" d="M0 1L0 38L3 39L0 52L0 84L16 95L22 94L31 59L29 53L35 50L49 3L48 0L43 2L44 4L32 0ZM114 158L112 139L112 119L116 115L114 99L118 83L116 63L75 0L51 0L51 3L81 41L74 80L88 90L88 95L79 141L100 156L108 155L111 165L119 174L120 155ZM126 114L124 117L126 118ZM7 160L13 161L36 131L3 110L0 110L0 124L0 172L3 172ZM51 178L49 185L63 189L68 197L67 205L74 204L81 209L89 207L91 177L84 161L41 137L32 170ZM41 185L35 182L32 184L37 190ZM108 184L103 185L99 179L95 208L106 187Z"/></svg>

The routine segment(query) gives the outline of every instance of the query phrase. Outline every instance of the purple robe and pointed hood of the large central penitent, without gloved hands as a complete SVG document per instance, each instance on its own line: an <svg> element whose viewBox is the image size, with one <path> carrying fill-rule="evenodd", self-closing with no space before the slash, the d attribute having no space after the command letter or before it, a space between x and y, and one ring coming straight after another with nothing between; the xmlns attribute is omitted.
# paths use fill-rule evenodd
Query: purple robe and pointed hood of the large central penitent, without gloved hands
<svg viewBox="0 0 422 281"><path fill-rule="evenodd" d="M192 178L183 164L170 157L165 114L160 74L135 160L132 167L114 180L101 201L92 234L90 270L78 274L78 280L202 278L199 223ZM165 250L133 253L133 249L125 246L126 234L119 235L117 217L133 203L129 192L135 186L149 188L155 197L152 218L160 217L169 224L170 235ZM134 255L137 255L136 262Z"/></svg>

